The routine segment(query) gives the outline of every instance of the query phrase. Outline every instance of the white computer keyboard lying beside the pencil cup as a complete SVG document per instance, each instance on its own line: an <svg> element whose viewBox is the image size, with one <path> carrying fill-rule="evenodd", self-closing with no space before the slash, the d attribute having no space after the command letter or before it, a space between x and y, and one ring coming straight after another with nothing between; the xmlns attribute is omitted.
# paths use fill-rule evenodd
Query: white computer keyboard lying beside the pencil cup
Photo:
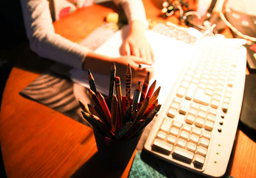
<svg viewBox="0 0 256 178"><path fill-rule="evenodd" d="M205 37L163 106L145 143L161 159L200 174L225 174L243 101L246 49ZM172 76L170 76L172 77Z"/></svg>

